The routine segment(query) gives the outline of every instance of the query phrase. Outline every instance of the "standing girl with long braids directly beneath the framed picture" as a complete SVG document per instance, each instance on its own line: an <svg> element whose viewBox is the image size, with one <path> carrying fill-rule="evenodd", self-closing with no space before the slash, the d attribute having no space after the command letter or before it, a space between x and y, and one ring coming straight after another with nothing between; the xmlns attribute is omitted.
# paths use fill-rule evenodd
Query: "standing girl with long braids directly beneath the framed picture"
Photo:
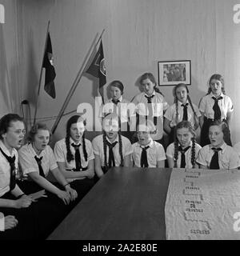
<svg viewBox="0 0 240 256"><path fill-rule="evenodd" d="M201 114L198 106L192 103L189 90L184 83L174 86L174 105L164 114L164 130L169 134L169 144L174 142L174 128L181 121L189 121L195 130L198 129Z"/></svg>

